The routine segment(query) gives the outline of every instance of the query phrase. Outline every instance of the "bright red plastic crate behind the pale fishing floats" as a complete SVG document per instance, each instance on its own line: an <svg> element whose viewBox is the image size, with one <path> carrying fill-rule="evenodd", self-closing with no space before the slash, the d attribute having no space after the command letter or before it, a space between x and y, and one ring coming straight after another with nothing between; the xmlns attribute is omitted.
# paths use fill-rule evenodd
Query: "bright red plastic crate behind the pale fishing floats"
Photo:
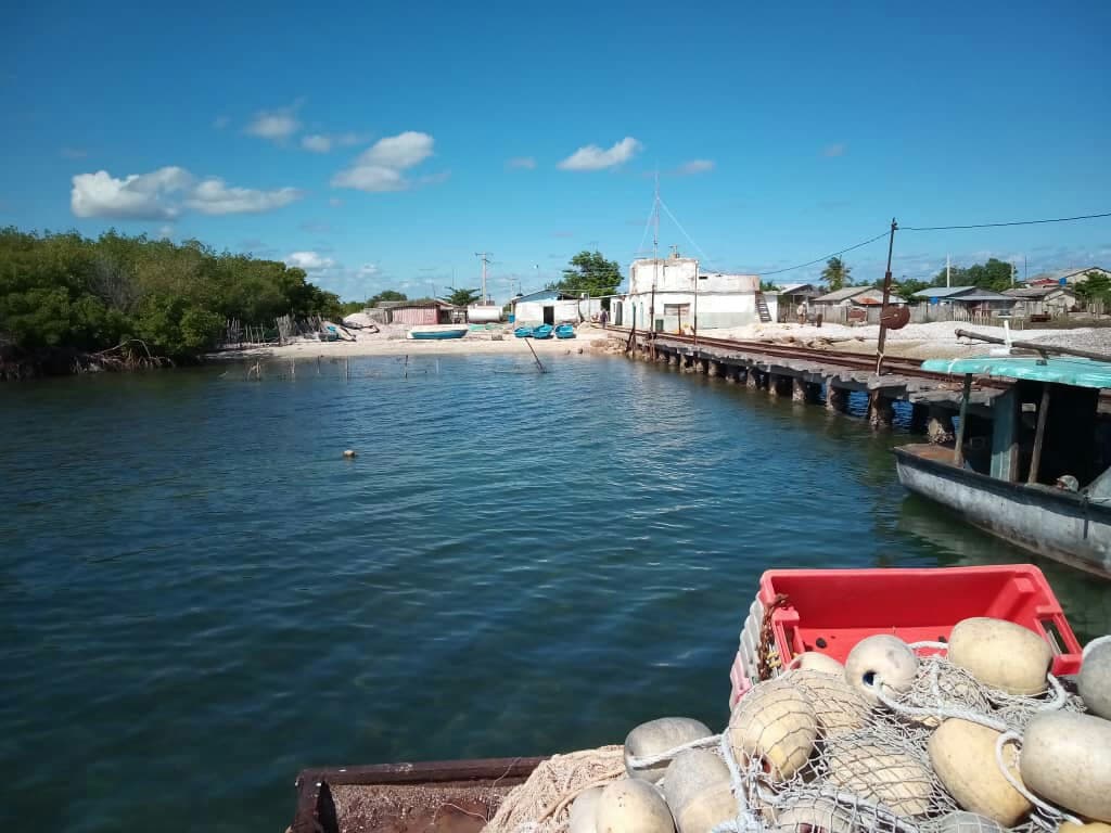
<svg viewBox="0 0 1111 833"><path fill-rule="evenodd" d="M1041 570L1032 564L923 570L769 570L760 578L783 665L803 651L844 662L860 640L948 641L962 619L991 616L1029 628L1053 649L1053 674L1080 671L1080 643Z"/></svg>

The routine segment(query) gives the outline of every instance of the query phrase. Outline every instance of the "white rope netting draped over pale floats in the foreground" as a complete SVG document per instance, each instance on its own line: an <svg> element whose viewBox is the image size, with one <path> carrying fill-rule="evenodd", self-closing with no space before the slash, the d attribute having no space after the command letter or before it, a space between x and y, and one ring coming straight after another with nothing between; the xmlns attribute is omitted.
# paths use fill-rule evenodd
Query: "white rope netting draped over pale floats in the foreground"
<svg viewBox="0 0 1111 833"><path fill-rule="evenodd" d="M1082 701L1052 675L1040 695L995 691L943 653L927 653L943 652L943 643L911 648L920 662L904 692L893 692L879 681L879 702L870 703L842 675L788 671L749 691L722 734L633 759L631 765L642 770L674 757L681 749L712 747L729 769L737 803L735 816L721 820L713 833L1055 833L1063 821L1075 821L1022 785L1017 760L1022 733L1034 715L1083 711ZM998 769L1014 792L1010 799L1022 807L1009 825L968 812L934 770L929 742L950 719L992 731L994 749L985 767ZM613 767L601 781L624 774ZM552 779L548 773L534 777ZM531 783L532 779L518 790L531 791ZM567 831L571 802L554 795L547 795L547 801L546 809L556 802L558 810L543 819L513 813L513 824L487 830Z"/></svg>

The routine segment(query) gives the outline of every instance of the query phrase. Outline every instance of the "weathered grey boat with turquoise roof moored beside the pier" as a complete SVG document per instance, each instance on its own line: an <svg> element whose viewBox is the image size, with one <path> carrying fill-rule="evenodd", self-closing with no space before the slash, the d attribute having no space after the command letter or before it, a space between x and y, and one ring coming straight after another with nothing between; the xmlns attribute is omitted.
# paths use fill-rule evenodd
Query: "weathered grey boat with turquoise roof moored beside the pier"
<svg viewBox="0 0 1111 833"><path fill-rule="evenodd" d="M964 377L953 448L894 450L907 489L1045 558L1111 578L1111 425L1099 415L1111 364L1071 357L931 359ZM998 397L990 438L968 428L972 375L1014 380Z"/></svg>

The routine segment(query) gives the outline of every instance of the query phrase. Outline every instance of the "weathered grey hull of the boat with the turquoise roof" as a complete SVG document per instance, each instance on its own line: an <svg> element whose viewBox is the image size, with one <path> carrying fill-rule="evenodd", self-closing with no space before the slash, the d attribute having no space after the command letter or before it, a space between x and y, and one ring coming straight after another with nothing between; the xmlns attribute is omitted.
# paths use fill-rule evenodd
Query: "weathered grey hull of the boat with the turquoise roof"
<svg viewBox="0 0 1111 833"><path fill-rule="evenodd" d="M1024 550L1111 578L1111 505L960 469L952 453L924 443L895 449L899 482Z"/></svg>

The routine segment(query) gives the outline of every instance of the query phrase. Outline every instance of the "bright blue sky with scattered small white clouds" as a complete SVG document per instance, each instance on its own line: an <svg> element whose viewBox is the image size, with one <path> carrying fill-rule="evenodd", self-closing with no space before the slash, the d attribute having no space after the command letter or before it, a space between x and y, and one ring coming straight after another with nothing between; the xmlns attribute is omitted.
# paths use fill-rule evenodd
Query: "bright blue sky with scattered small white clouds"
<svg viewBox="0 0 1111 833"><path fill-rule="evenodd" d="M6 29L0 223L197 237L349 299L477 285L482 250L500 298L583 248L627 265L655 170L693 239L664 214L661 248L720 270L891 217L1111 211L1103 0L47 1ZM947 253L1111 265L1111 219L902 232L893 271ZM873 279L884 257L845 260Z"/></svg>

